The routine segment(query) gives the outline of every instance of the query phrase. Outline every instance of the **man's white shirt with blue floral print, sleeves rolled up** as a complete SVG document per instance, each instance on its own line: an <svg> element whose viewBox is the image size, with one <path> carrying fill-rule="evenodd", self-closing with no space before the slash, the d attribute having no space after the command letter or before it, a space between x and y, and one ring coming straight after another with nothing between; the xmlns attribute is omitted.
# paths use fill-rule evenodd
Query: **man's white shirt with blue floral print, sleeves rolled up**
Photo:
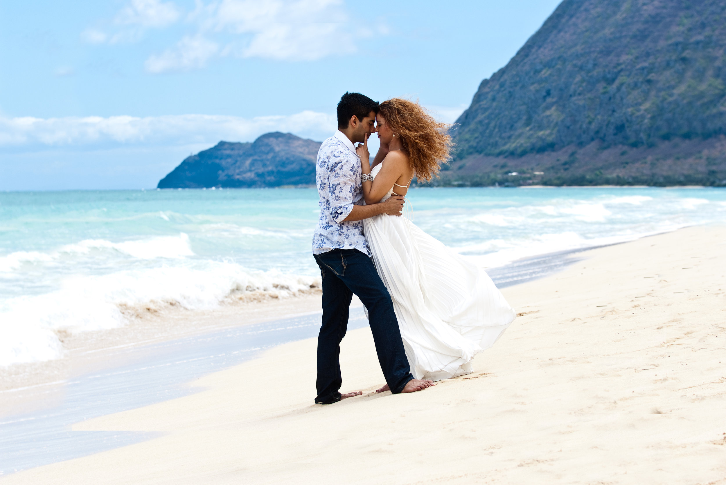
<svg viewBox="0 0 726 485"><path fill-rule="evenodd" d="M358 249L371 256L363 236L363 221L343 223L355 205L364 205L361 161L356 149L340 130L322 142L315 169L320 217L313 235L313 253L331 249Z"/></svg>

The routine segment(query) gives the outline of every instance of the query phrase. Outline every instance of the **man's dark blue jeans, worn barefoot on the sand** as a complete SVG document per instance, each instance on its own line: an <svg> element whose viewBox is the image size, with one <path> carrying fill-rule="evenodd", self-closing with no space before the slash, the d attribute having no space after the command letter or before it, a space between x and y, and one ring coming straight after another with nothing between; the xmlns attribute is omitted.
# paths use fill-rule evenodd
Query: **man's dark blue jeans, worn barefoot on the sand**
<svg viewBox="0 0 726 485"><path fill-rule="evenodd" d="M322 327L317 349L317 397L319 404L340 401L340 341L348 329L348 307L353 294L368 310L380 369L393 394L403 391L411 375L401 340L399 321L393 312L388 289L373 261L357 249L333 249L313 254L322 277Z"/></svg>

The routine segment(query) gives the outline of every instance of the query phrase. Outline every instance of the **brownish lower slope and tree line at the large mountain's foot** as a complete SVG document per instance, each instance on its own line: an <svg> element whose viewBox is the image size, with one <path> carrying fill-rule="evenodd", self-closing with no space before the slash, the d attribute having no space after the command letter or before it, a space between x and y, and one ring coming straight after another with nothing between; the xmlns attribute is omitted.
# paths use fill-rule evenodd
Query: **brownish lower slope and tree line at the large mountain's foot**
<svg viewBox="0 0 726 485"><path fill-rule="evenodd" d="M473 155L443 165L420 186L726 186L726 136L658 146L566 146L523 157Z"/></svg>

